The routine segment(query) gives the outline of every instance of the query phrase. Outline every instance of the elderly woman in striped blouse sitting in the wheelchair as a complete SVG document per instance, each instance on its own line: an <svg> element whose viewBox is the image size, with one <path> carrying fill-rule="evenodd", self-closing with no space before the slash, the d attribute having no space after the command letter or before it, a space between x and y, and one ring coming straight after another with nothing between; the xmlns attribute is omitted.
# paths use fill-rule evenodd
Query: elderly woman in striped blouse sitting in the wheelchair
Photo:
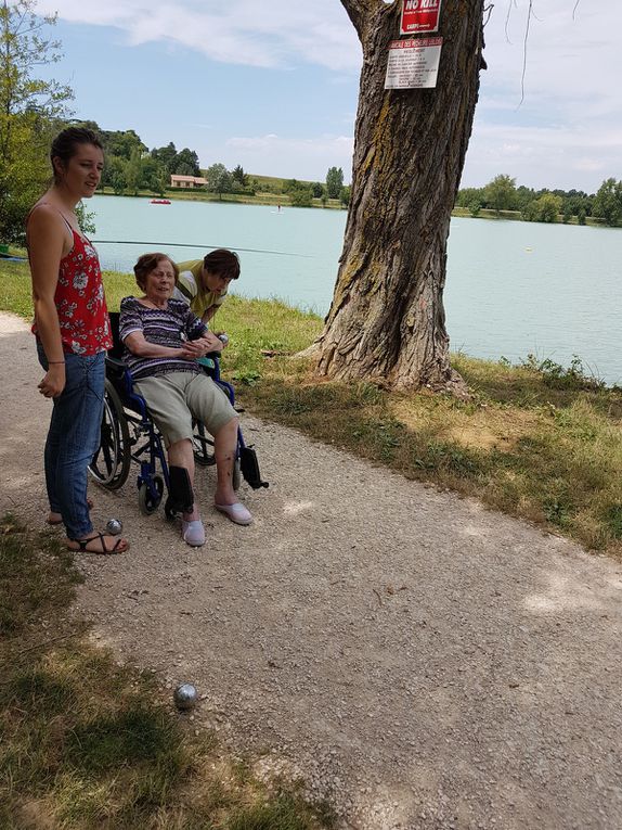
<svg viewBox="0 0 622 830"><path fill-rule="evenodd" d="M125 346L124 360L167 448L167 514L181 512L184 541L199 546L205 542L205 528L193 491L193 419L205 424L213 436L216 509L236 524L252 521L234 490L236 412L226 394L197 363L197 358L220 352L223 345L185 303L171 298L178 270L168 256L144 254L134 273L144 294L121 302L119 337Z"/></svg>

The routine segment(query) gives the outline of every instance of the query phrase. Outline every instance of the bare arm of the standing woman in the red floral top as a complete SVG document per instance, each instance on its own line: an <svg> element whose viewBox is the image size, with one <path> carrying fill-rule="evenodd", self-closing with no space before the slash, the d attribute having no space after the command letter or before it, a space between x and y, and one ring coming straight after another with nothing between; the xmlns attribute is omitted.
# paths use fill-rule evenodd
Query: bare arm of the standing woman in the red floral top
<svg viewBox="0 0 622 830"><path fill-rule="evenodd" d="M65 388L65 355L54 294L61 259L72 244L73 239L69 241L68 231L56 210L41 205L33 212L28 220L28 256L37 333L50 363L39 384L46 397L56 397Z"/></svg>

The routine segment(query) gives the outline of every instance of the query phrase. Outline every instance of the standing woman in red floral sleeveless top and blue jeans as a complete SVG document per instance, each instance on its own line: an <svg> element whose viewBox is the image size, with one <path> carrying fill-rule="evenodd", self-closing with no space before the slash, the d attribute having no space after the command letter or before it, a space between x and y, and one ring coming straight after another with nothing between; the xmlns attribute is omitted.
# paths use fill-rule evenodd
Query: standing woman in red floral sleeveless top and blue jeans
<svg viewBox="0 0 622 830"><path fill-rule="evenodd" d="M90 197L104 166L102 143L88 129L69 127L52 143L53 182L26 224L33 278L39 392L53 403L46 440L49 524L64 524L70 550L121 553L121 538L94 533L87 469L100 443L104 360L112 347L98 254L82 234L76 206Z"/></svg>

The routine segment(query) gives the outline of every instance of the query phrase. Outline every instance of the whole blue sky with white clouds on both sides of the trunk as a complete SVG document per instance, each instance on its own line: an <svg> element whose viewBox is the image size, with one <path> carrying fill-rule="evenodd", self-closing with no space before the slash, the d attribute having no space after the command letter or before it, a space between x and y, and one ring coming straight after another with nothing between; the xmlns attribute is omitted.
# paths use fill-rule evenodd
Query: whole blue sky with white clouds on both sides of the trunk
<svg viewBox="0 0 622 830"><path fill-rule="evenodd" d="M504 174L593 193L622 178L622 3L533 0L524 95L529 0L491 7L461 187ZM202 167L324 181L336 166L350 181L362 56L339 0L39 0L37 12L59 14L50 72L74 89L75 117L134 129L150 149L189 146Z"/></svg>

